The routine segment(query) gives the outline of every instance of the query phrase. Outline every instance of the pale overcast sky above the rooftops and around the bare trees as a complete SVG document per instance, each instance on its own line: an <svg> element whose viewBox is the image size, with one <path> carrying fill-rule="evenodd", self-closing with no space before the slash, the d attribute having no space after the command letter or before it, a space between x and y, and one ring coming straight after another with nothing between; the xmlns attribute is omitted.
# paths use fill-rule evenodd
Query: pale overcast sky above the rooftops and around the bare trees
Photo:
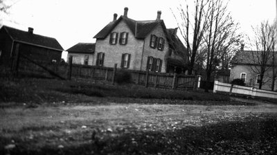
<svg viewBox="0 0 277 155"><path fill-rule="evenodd" d="M93 36L114 13L123 15L125 7L129 8L128 17L135 20L156 19L157 10L161 10L166 27L175 28L170 8L178 4L179 0L17 0L4 24L21 30L33 27L36 34L55 37L66 50L78 42L95 42ZM267 19L274 21L276 0L231 0L229 10L241 31L250 34L251 26Z"/></svg>

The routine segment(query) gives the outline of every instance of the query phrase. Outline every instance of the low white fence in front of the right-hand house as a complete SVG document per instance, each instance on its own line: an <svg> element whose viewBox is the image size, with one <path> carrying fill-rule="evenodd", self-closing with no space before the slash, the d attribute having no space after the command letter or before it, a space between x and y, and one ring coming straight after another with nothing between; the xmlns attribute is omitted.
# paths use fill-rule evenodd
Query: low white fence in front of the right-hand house
<svg viewBox="0 0 277 155"><path fill-rule="evenodd" d="M232 86L232 84L226 84L215 80L215 84L213 85L213 92L216 93L217 91L239 93L244 95L251 95L253 97L258 96L263 98L277 98L277 92L274 91L265 91L249 86Z"/></svg>

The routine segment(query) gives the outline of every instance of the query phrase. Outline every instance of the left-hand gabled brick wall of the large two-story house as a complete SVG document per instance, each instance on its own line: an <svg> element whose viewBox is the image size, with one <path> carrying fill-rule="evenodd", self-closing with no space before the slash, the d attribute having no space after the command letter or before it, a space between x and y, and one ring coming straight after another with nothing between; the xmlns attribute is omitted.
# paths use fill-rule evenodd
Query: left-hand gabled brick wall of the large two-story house
<svg viewBox="0 0 277 155"><path fill-rule="evenodd" d="M109 44L109 35L105 39L96 40L96 53L105 53L104 66L114 67L114 64L117 64L117 67L120 68L122 54L129 53L131 54L129 69L140 70L141 67L141 54L143 51L143 40L136 39L134 34L129 30L125 21L120 21L120 23L111 31L118 33L118 40L115 45ZM119 35L122 32L127 32L128 40L126 45L120 45ZM93 64L96 65L97 57L93 57Z"/></svg>

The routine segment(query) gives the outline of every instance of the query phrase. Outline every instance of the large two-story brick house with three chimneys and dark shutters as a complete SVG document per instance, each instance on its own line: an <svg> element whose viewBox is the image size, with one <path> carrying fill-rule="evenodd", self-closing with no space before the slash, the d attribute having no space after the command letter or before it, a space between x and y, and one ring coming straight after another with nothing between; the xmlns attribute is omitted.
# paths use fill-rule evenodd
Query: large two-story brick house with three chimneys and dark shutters
<svg viewBox="0 0 277 155"><path fill-rule="evenodd" d="M150 21L130 19L127 12L128 8L125 8L124 15L118 19L117 14L114 14L114 20L94 36L96 57L93 62L96 66L113 67L114 64L118 64L118 68L121 69L148 69L162 73L169 72L172 67L181 67L185 71L186 58L176 57L179 53L186 56L186 48L177 38L177 29L173 33L172 30L166 29L161 20L161 11L157 12L156 20ZM179 42L174 44L172 38ZM179 62L170 64L174 62L172 60Z"/></svg>

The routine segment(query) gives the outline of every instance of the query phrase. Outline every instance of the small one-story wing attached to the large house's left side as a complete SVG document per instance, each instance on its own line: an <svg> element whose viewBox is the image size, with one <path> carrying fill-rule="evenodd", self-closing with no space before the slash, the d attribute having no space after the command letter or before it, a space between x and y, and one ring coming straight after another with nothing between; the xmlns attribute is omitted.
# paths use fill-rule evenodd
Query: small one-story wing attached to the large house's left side
<svg viewBox="0 0 277 155"><path fill-rule="evenodd" d="M67 60L72 56L73 64L93 65L94 43L78 43L66 50Z"/></svg>

